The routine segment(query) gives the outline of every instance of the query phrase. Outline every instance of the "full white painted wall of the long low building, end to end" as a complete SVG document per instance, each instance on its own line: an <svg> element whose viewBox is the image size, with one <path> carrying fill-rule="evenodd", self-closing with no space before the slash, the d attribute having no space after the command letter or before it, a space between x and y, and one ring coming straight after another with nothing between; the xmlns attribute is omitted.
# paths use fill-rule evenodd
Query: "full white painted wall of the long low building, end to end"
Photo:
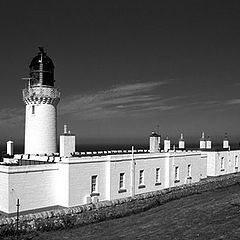
<svg viewBox="0 0 240 240"><path fill-rule="evenodd" d="M224 157L224 169L220 159ZM238 168L235 159L238 158ZM106 155L94 157L62 158L56 164L1 166L0 211L31 210L54 205L64 207L87 203L91 195L91 176L98 176L98 193L95 198L112 200L132 195L132 166L134 166L134 192L140 194L197 182L202 178L236 172L240 169L240 150L222 152L169 151L167 153L141 153L132 155ZM39 160L39 159L38 159ZM187 168L191 165L191 179ZM179 182L175 182L175 167L179 167ZM156 168L160 168L161 184L156 183ZM144 170L143 187L139 184L139 172ZM222 171L221 171L222 170ZM120 173L125 174L125 189L119 191Z"/></svg>

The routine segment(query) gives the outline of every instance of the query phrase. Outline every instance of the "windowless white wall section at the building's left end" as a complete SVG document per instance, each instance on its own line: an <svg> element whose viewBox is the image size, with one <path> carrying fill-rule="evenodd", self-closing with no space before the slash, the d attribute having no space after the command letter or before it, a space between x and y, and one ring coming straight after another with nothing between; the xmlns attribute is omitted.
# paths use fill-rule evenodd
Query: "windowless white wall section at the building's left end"
<svg viewBox="0 0 240 240"><path fill-rule="evenodd" d="M16 212L18 198L20 211L57 205L57 165L0 166L0 171L1 211Z"/></svg>

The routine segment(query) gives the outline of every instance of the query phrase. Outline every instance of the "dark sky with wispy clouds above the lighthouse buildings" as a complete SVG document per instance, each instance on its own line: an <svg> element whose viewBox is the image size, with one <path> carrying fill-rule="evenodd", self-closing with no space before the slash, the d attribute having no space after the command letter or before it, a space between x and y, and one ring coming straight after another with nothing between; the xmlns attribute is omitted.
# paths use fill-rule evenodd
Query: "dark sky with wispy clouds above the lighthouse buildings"
<svg viewBox="0 0 240 240"><path fill-rule="evenodd" d="M44 46L58 129L85 143L240 141L239 1L0 2L0 140L22 142L22 77Z"/></svg>

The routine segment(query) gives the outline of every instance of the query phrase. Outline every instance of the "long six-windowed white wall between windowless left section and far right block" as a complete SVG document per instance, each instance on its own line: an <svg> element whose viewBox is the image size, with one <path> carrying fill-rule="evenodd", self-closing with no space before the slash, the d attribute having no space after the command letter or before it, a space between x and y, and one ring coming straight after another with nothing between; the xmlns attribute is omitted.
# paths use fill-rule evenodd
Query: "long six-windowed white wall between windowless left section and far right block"
<svg viewBox="0 0 240 240"><path fill-rule="evenodd" d="M206 177L206 156L197 153L147 153L135 154L135 194L156 191L186 183L187 165L191 164L192 181ZM91 176L98 176L99 200L112 200L131 196L131 154L102 157L66 158L62 163L69 165L69 205L85 204L91 194ZM170 160L169 160L170 159ZM180 183L174 183L174 163L180 167ZM199 167L201 163L201 167ZM156 183L156 168L160 168L161 185ZM60 167L61 169L61 167ZM139 173L144 170L144 186L139 185ZM125 174L125 189L119 191L120 173ZM60 174L60 176L63 176ZM62 185L62 184L61 184Z"/></svg>

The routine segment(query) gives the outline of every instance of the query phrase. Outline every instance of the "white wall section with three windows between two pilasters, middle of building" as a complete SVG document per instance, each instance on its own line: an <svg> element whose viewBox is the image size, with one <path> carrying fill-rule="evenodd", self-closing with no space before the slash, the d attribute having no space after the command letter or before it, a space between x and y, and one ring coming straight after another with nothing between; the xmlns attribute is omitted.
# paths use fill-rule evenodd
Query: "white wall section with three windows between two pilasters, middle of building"
<svg viewBox="0 0 240 240"><path fill-rule="evenodd" d="M139 194L143 192L156 191L165 186L165 161L162 153L152 154L135 154L134 155L134 193ZM122 197L132 196L132 155L116 155L111 156L110 159L110 199L117 199ZM155 185L156 168L160 168L161 185ZM139 184L139 172L144 170L144 184ZM119 191L120 173L125 174L125 188L126 192Z"/></svg>

